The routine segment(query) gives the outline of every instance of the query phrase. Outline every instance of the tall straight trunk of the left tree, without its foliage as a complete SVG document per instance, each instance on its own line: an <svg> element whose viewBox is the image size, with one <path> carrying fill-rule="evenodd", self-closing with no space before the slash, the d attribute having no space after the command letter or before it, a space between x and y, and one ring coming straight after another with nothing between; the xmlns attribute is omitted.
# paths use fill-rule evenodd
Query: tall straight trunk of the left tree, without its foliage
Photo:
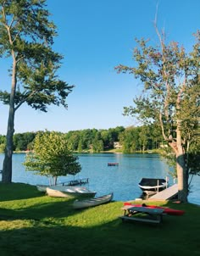
<svg viewBox="0 0 200 256"><path fill-rule="evenodd" d="M14 57L14 53L13 53ZM10 93L10 102L9 102L9 113L8 113L8 127L7 127L7 136L6 136L6 148L5 148L5 157L3 160L3 183L12 182L12 158L13 158L13 136L14 136L14 97L16 89L16 61L14 58L13 61L13 74L12 74L12 87Z"/></svg>

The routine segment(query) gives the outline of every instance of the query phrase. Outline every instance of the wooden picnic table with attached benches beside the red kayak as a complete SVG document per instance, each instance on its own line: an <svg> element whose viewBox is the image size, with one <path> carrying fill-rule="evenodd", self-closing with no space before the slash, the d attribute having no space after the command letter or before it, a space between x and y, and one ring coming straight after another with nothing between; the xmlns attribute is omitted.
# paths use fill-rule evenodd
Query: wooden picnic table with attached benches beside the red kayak
<svg viewBox="0 0 200 256"><path fill-rule="evenodd" d="M123 221L142 221L149 223L161 223L163 221L164 209L150 209L131 205L125 205L122 209L125 211L124 216L120 217Z"/></svg>

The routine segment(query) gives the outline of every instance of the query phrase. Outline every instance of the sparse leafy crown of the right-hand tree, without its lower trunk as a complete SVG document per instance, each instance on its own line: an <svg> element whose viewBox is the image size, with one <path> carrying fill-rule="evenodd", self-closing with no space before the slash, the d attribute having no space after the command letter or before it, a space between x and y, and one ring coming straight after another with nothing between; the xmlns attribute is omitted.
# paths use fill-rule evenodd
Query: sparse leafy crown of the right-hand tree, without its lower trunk
<svg viewBox="0 0 200 256"><path fill-rule="evenodd" d="M153 47L149 41L136 40L136 66L115 68L135 75L144 86L143 96L134 99L134 107L125 107L125 114L136 115L143 122L158 121L161 114L166 137L175 130L176 120L181 120L185 132L186 127L193 129L200 112L199 31L196 37L197 43L189 54L176 42L167 45L161 40L160 47Z"/></svg>

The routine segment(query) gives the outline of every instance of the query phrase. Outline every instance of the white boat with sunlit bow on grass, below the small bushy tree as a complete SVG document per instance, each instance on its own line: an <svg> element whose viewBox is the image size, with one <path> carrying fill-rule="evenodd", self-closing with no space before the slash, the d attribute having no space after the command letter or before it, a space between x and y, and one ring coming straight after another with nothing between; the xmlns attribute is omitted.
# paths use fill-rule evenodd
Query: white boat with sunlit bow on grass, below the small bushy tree
<svg viewBox="0 0 200 256"><path fill-rule="evenodd" d="M46 191L48 196L56 198L94 198L97 193L85 186L48 186Z"/></svg>

